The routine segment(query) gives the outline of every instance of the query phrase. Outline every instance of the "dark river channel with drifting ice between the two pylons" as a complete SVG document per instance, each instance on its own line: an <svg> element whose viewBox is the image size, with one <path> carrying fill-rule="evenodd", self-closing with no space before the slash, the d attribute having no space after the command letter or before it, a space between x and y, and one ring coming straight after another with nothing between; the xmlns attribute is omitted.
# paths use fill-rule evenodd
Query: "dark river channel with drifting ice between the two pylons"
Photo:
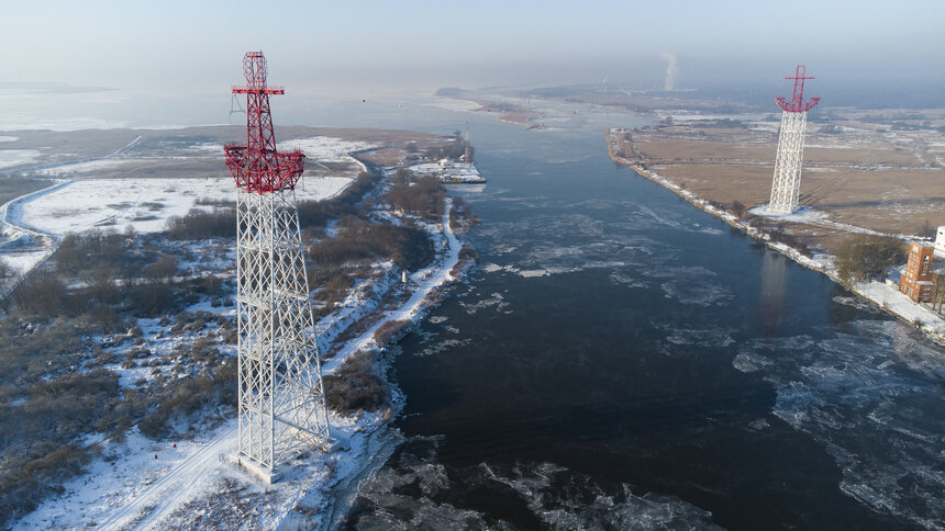
<svg viewBox="0 0 945 531"><path fill-rule="evenodd" d="M348 524L943 528L943 350L568 114L475 123L481 261L401 341L405 439Z"/></svg>

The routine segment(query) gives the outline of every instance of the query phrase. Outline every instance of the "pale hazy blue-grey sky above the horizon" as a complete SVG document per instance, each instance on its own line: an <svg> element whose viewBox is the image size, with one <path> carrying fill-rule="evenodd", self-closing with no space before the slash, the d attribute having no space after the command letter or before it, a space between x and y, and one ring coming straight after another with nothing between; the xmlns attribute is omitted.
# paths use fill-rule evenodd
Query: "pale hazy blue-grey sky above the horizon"
<svg viewBox="0 0 945 531"><path fill-rule="evenodd" d="M263 49L305 89L945 75L937 1L8 1L0 81L208 93ZM300 88L301 88L300 87Z"/></svg>

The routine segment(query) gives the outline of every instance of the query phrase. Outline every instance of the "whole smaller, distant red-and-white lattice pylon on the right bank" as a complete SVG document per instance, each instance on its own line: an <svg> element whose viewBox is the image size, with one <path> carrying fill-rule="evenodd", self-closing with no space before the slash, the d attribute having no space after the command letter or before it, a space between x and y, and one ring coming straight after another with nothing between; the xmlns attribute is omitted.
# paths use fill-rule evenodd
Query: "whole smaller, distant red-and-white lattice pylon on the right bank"
<svg viewBox="0 0 945 531"><path fill-rule="evenodd" d="M798 210L798 196L801 190L801 163L804 156L804 127L808 124L808 111L821 100L811 98L804 102L804 80L807 68L798 65L794 77L794 93L791 101L776 98L781 108L781 135L778 138L778 154L775 157L775 179L771 183L771 201L768 211L790 214Z"/></svg>

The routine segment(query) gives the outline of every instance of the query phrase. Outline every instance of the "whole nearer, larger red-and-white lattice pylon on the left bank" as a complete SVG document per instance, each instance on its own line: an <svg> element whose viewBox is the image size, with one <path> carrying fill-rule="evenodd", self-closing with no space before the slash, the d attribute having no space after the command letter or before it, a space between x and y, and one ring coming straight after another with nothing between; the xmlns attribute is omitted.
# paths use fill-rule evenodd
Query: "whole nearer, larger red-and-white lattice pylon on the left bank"
<svg viewBox="0 0 945 531"><path fill-rule="evenodd" d="M243 59L246 144L227 145L236 181L240 450L235 460L269 482L286 460L330 441L314 318L299 234L301 151L279 152L269 114L266 58Z"/></svg>

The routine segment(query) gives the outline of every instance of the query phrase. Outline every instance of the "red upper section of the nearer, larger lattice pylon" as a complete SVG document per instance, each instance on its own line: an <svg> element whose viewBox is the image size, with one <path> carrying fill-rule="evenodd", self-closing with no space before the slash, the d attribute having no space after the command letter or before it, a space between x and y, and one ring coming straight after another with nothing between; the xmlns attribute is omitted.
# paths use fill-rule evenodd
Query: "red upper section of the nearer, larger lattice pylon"
<svg viewBox="0 0 945 531"><path fill-rule="evenodd" d="M284 94L281 87L266 86L266 58L262 52L248 52L243 58L245 87L233 87L234 94L246 94L246 144L223 146L226 167L236 187L247 192L267 193L291 190L302 176L305 155L302 151L276 151L269 94Z"/></svg>

